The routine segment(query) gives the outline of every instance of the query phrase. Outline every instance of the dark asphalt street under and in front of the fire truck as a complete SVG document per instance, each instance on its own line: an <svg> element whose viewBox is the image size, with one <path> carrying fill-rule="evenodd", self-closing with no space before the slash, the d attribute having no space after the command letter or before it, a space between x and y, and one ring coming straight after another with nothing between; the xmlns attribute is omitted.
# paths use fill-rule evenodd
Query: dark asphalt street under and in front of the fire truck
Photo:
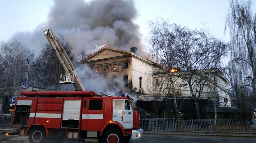
<svg viewBox="0 0 256 143"><path fill-rule="evenodd" d="M81 143L85 141L65 140L63 143ZM145 135L130 143L255 143L253 138L224 138L224 137L190 137L190 136L153 136ZM28 143L28 137L17 135L0 135L0 143ZM86 142L89 143L89 142Z"/></svg>

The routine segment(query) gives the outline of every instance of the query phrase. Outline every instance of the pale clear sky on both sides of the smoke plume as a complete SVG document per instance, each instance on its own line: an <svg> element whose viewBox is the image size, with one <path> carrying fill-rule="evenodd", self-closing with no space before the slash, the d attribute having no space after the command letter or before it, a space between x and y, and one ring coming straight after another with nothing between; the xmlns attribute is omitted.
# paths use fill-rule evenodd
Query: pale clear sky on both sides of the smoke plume
<svg viewBox="0 0 256 143"><path fill-rule="evenodd" d="M253 1L254 5L256 1ZM7 41L14 33L33 32L47 20L54 3L52 0L1 0L0 41ZM148 35L148 22L163 17L170 23L177 23L191 29L205 25L217 38L229 41L229 32L224 34L228 0L135 0L139 16L135 19L143 40ZM255 13L255 7L253 13ZM67 7L68 8L68 7Z"/></svg>

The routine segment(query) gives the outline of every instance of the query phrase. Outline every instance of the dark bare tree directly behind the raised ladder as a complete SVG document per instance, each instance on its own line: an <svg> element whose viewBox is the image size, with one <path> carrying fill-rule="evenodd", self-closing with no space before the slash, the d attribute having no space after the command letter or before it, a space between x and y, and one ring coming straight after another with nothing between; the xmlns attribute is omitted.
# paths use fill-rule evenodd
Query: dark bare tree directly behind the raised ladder
<svg viewBox="0 0 256 143"><path fill-rule="evenodd" d="M75 55L72 53L73 47L60 35L60 42L69 55L70 60L75 65ZM64 88L59 84L60 74L65 73L61 63L59 62L55 52L52 50L50 44L45 44L41 49L41 54L32 63L31 71L33 75L32 84L42 88ZM71 88L71 87L67 87Z"/></svg>

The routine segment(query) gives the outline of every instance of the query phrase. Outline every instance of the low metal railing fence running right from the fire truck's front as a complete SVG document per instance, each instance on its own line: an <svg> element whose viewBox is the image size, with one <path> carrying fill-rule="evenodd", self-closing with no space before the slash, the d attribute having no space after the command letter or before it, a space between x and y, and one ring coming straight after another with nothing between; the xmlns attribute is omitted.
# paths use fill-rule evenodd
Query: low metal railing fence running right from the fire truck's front
<svg viewBox="0 0 256 143"><path fill-rule="evenodd" d="M142 129L173 132L210 132L256 134L253 120L142 118Z"/></svg>

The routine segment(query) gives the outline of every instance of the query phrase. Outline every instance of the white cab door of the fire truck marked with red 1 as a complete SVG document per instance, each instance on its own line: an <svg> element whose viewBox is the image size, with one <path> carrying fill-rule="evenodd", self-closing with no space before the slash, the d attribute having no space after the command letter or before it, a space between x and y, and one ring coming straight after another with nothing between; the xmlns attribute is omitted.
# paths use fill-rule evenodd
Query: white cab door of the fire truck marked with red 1
<svg viewBox="0 0 256 143"><path fill-rule="evenodd" d="M133 110L131 109L129 100L114 100L113 121L117 121L123 125L125 129L133 127Z"/></svg>

